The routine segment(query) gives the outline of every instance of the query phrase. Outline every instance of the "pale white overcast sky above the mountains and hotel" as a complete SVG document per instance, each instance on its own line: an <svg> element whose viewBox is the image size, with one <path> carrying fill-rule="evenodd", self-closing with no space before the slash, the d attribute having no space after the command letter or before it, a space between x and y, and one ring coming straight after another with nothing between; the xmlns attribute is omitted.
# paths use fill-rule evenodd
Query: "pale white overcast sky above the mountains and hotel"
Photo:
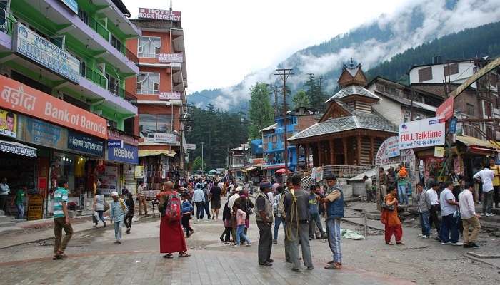
<svg viewBox="0 0 500 285"><path fill-rule="evenodd" d="M170 0L123 0L136 18L139 6L169 9ZM401 0L172 0L182 12L188 93L239 83L301 48L391 14Z"/></svg>

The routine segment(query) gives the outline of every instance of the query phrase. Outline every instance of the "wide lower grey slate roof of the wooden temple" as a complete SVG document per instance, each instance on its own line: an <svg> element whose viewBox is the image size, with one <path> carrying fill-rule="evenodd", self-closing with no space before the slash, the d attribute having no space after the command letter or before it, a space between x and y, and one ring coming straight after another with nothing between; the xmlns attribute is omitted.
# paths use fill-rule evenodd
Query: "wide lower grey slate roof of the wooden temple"
<svg viewBox="0 0 500 285"><path fill-rule="evenodd" d="M318 135L331 133L341 133L346 130L380 130L389 133L398 133L398 127L389 120L377 113L362 113L353 111L353 115L326 120L321 123L311 125L311 127L302 130L293 135L289 140L298 140L301 138L311 138Z"/></svg>

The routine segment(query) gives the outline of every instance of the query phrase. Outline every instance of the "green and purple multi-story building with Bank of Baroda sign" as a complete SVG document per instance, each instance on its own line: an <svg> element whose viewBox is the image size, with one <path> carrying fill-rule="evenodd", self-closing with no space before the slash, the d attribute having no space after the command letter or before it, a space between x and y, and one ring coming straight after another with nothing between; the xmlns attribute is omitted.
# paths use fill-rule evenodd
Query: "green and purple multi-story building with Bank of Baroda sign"
<svg viewBox="0 0 500 285"><path fill-rule="evenodd" d="M141 34L127 16L121 0L0 1L0 176L11 189L44 199L68 177L71 208L84 209L96 188L126 183L137 107L124 82L139 67L124 43Z"/></svg>

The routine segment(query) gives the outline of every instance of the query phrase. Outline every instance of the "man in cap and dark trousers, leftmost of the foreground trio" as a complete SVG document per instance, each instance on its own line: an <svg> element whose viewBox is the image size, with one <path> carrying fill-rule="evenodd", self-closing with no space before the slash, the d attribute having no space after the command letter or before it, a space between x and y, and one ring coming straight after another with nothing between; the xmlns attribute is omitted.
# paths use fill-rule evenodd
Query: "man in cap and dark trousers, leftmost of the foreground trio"
<svg viewBox="0 0 500 285"><path fill-rule="evenodd" d="M271 259L271 249L273 246L273 235L271 231L271 226L273 224L273 205L267 196L267 193L271 191L271 187L271 183L262 182L255 200L256 207L254 211L257 227L259 227L259 265L261 266L273 265L273 259Z"/></svg>

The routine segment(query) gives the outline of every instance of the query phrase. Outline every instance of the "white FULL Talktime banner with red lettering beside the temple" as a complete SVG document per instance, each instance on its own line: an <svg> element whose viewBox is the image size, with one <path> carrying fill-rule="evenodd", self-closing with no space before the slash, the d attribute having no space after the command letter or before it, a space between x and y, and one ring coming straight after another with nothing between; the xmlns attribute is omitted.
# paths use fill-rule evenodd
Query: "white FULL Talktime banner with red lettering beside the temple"
<svg viewBox="0 0 500 285"><path fill-rule="evenodd" d="M444 145L444 117L414 120L399 125L399 150Z"/></svg>

